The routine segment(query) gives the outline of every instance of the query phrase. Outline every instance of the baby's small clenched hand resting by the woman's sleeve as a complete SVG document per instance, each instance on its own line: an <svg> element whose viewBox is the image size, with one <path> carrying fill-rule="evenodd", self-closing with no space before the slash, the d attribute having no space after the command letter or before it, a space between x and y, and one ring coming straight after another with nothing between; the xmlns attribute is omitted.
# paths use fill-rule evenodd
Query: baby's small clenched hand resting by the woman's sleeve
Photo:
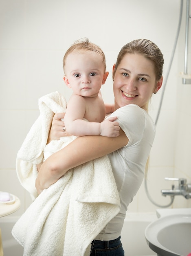
<svg viewBox="0 0 191 256"><path fill-rule="evenodd" d="M108 119L105 119L100 124L100 135L106 136L106 137L117 137L119 136L119 123L115 120L117 117L110 117Z"/></svg>

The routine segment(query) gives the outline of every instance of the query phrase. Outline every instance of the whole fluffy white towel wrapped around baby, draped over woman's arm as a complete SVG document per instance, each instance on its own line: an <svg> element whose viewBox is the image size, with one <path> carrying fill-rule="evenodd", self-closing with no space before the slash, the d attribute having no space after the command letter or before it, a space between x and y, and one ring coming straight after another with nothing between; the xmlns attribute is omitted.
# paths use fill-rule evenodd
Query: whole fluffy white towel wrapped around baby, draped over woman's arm
<svg viewBox="0 0 191 256"><path fill-rule="evenodd" d="M55 104L62 104L63 110L66 110L66 102L58 92L48 94L44 99L46 102L51 99ZM40 101L41 104L44 105L44 100ZM44 148L45 151L51 149L51 144L46 146L46 140L54 115L53 105L49 107L46 104L46 108L51 108L51 118L37 119L18 153L19 179L33 197L36 193L34 182L37 175L34 166L41 162ZM42 111L48 113L46 108L40 108L40 117L43 116ZM46 132L46 135L39 135L39 141L33 141L29 145L29 141L39 130ZM65 143L62 140L57 141L57 149ZM53 144L55 150L55 141ZM33 153L33 149L39 147L40 150ZM22 149L26 151L23 152ZM32 151L30 157L27 150ZM21 156L23 159L19 158ZM24 256L89 256L92 240L119 210L119 193L110 161L107 156L100 157L68 171L55 184L42 191L16 222L12 234L24 247Z"/></svg>

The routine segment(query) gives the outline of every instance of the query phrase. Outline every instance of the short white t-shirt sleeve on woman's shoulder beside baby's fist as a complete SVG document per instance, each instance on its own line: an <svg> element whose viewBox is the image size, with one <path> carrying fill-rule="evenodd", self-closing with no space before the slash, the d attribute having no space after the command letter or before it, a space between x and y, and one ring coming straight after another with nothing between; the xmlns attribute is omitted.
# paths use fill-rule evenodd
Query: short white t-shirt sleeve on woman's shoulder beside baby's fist
<svg viewBox="0 0 191 256"><path fill-rule="evenodd" d="M129 139L128 146L137 144L143 137L145 114L142 108L130 104L114 111L109 117L116 116L119 126Z"/></svg>

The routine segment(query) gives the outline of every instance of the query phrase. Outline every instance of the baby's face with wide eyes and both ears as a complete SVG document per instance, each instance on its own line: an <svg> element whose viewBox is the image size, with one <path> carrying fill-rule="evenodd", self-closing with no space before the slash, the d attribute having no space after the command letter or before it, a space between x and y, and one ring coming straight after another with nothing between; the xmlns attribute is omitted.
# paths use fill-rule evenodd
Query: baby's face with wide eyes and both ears
<svg viewBox="0 0 191 256"><path fill-rule="evenodd" d="M105 83L102 56L93 51L73 51L66 58L64 81L75 94L94 97Z"/></svg>

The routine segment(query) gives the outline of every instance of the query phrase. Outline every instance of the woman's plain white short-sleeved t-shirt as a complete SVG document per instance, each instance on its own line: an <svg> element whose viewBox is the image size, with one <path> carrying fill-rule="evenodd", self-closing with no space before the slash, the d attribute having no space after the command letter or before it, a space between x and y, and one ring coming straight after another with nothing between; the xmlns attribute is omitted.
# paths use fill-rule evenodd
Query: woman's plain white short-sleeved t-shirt
<svg viewBox="0 0 191 256"><path fill-rule="evenodd" d="M128 144L109 154L112 170L121 200L120 212L95 238L96 240L114 240L121 235L127 206L132 202L144 178L145 165L155 137L155 124L149 114L130 104L117 109L111 116L127 135Z"/></svg>

